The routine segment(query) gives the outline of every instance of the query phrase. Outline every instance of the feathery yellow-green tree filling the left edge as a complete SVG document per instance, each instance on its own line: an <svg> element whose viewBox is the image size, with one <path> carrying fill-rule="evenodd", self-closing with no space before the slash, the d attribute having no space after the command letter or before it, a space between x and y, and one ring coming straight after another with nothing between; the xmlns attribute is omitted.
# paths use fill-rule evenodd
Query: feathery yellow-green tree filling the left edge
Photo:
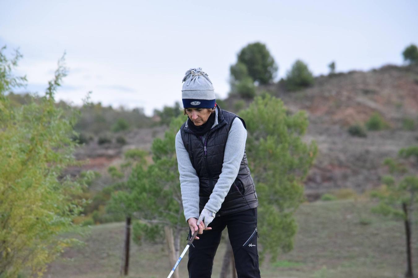
<svg viewBox="0 0 418 278"><path fill-rule="evenodd" d="M76 113L66 116L55 105L54 95L67 70L59 60L46 94L19 107L6 93L24 85L25 77L13 72L22 57L9 60L0 50L0 277L17 277L29 268L41 276L46 264L66 246L77 242L61 238L70 230L81 203L71 196L81 193L83 180L62 177L74 159L71 140Z"/></svg>

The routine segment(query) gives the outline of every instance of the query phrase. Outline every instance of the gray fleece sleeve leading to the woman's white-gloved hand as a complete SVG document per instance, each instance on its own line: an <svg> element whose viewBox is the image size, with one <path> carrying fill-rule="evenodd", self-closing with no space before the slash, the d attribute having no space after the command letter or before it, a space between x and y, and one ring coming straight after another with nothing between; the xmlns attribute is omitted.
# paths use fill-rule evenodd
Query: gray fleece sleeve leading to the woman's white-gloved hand
<svg viewBox="0 0 418 278"><path fill-rule="evenodd" d="M235 118L228 133L227 143L225 145L224 162L222 163L222 172L215 184L209 201L205 208L215 213L221 208L225 196L228 194L232 183L237 178L242 157L244 156L245 141L247 140L247 130L245 130L239 118Z"/></svg>

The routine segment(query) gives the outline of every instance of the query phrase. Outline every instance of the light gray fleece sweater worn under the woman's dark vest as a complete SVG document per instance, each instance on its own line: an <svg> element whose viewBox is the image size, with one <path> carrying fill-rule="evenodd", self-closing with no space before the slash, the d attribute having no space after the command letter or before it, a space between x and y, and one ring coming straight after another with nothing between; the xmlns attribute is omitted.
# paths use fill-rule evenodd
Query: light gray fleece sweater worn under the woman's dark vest
<svg viewBox="0 0 418 278"><path fill-rule="evenodd" d="M189 120L189 119L187 119ZM216 110L214 128L218 125L218 110ZM204 135L206 137L207 133ZM235 118L228 133L225 145L224 162L222 173L214 186L209 201L204 206L206 209L217 213L227 195L229 188L237 178L242 157L244 156L247 130L245 130L239 118ZM189 153L184 147L180 130L176 135L176 154L178 172L180 173L181 198L183 200L184 217L199 218L199 177L191 165Z"/></svg>

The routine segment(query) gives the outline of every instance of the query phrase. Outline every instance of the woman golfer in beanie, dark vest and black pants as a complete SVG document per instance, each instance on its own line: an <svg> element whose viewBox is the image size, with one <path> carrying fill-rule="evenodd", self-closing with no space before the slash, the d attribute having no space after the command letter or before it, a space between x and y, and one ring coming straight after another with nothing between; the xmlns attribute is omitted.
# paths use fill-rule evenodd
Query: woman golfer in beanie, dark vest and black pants
<svg viewBox="0 0 418 278"><path fill-rule="evenodd" d="M186 122L176 135L184 216L191 233L189 277L211 277L213 259L228 227L239 278L260 277L257 194L245 154L245 122L215 103L211 80L201 68L183 78Z"/></svg>

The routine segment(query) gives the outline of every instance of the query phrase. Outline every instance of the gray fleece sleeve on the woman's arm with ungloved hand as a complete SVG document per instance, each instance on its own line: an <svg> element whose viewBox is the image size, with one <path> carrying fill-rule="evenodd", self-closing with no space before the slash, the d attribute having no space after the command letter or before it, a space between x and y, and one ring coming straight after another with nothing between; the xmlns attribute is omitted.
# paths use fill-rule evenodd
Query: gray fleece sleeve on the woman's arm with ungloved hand
<svg viewBox="0 0 418 278"><path fill-rule="evenodd" d="M199 218L199 177L191 165L189 153L181 139L180 130L176 135L176 155L184 217L186 221L192 217Z"/></svg>

